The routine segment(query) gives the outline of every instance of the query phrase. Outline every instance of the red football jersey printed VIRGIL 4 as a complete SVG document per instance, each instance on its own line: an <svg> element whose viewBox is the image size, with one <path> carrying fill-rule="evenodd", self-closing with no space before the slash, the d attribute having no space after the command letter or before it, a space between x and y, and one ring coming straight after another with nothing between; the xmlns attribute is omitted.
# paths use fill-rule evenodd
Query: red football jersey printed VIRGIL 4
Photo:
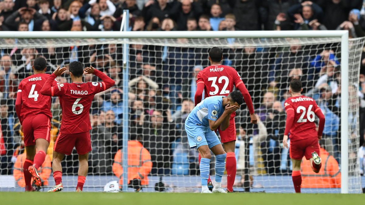
<svg viewBox="0 0 365 205"><path fill-rule="evenodd" d="M41 94L41 89L50 76L46 73L34 74L20 82L16 97L20 106L17 106L16 112L21 122L26 116L38 113L45 113L52 118L51 96ZM58 82L53 81L52 85L57 86Z"/></svg>

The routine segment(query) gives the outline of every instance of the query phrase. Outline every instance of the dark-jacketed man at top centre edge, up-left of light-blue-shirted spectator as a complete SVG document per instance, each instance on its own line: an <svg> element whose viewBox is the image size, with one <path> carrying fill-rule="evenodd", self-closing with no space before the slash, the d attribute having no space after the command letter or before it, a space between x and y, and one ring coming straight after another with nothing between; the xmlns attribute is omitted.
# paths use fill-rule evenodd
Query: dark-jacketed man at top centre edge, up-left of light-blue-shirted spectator
<svg viewBox="0 0 365 205"><path fill-rule="evenodd" d="M177 4L179 4L179 7L181 7L176 17L177 30L185 31L189 27L187 25L189 19L195 19L196 23L196 19L198 19L199 16L203 13L203 9L199 5L199 3L191 0L181 0Z"/></svg>

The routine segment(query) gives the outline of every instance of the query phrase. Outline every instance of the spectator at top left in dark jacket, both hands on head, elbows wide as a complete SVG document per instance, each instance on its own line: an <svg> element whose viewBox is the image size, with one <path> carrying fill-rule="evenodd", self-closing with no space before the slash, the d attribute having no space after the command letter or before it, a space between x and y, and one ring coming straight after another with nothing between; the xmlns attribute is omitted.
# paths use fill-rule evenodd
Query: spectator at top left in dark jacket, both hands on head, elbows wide
<svg viewBox="0 0 365 205"><path fill-rule="evenodd" d="M19 19L19 20L18 20ZM33 31L34 29L34 22L36 20L46 20L47 18L42 14L35 11L34 8L20 8L18 11L15 11L7 19L5 19L5 24L12 30L16 30L18 24L20 22L28 23L29 31Z"/></svg>

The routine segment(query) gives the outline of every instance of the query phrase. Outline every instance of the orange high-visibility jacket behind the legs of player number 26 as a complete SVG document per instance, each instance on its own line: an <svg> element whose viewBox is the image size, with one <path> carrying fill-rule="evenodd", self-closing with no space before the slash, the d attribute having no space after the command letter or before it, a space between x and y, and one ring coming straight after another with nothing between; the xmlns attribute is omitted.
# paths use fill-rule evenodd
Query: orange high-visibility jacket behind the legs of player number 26
<svg viewBox="0 0 365 205"><path fill-rule="evenodd" d="M303 157L301 162L301 188L341 188L341 172L335 158L320 148L322 167L319 173L312 170L310 160Z"/></svg>

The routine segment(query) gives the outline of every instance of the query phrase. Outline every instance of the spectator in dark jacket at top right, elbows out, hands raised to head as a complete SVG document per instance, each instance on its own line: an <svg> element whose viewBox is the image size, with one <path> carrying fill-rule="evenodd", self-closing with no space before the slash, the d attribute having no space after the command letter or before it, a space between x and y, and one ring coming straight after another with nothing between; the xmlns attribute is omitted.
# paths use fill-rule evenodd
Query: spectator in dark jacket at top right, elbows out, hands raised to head
<svg viewBox="0 0 365 205"><path fill-rule="evenodd" d="M295 4L288 9L288 16L296 23L294 30L299 30L304 24L308 24L314 19L323 22L323 10L312 1L304 1Z"/></svg>

